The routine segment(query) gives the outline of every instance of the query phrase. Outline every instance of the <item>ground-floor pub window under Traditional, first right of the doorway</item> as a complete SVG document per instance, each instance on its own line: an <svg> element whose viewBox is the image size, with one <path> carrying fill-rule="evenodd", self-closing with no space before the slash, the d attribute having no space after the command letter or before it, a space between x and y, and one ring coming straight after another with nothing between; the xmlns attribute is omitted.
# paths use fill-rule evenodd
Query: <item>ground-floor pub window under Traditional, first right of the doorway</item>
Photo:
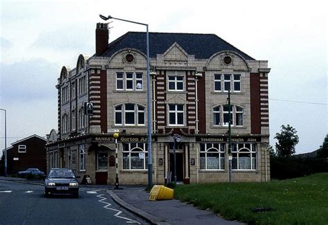
<svg viewBox="0 0 328 225"><path fill-rule="evenodd" d="M201 143L200 169L224 170L225 154L224 143Z"/></svg>

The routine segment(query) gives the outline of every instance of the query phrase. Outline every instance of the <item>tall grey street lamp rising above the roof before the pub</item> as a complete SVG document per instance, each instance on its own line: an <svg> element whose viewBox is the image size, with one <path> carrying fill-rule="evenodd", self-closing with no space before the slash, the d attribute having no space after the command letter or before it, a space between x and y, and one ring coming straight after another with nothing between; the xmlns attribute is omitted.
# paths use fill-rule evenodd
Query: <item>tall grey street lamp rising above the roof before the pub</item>
<svg viewBox="0 0 328 225"><path fill-rule="evenodd" d="M153 178L152 178L152 172L153 172L153 163L152 163L152 121L151 121L151 114L152 111L150 109L150 87L149 87L149 33L148 33L148 24L143 24L139 23L136 21L130 21L127 19L119 19L116 17L105 17L103 15L99 15L101 19L104 19L105 21L108 19L117 19L120 21L125 21L129 22L132 24L139 24L146 26L146 48L147 48L147 133L148 133L148 138L147 138L147 145L148 145L148 188L152 188L152 183L153 183Z"/></svg>

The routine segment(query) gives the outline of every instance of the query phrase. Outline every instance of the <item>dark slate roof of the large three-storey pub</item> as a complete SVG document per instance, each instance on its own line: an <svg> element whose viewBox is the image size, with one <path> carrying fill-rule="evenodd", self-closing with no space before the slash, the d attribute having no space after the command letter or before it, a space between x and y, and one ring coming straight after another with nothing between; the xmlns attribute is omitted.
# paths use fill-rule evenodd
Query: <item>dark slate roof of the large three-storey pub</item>
<svg viewBox="0 0 328 225"><path fill-rule="evenodd" d="M149 33L149 57L165 53L174 42L196 59L208 59L219 51L236 51L246 60L254 60L217 35L192 33ZM110 57L122 48L136 48L146 54L146 33L128 32L109 43L107 51L100 56Z"/></svg>

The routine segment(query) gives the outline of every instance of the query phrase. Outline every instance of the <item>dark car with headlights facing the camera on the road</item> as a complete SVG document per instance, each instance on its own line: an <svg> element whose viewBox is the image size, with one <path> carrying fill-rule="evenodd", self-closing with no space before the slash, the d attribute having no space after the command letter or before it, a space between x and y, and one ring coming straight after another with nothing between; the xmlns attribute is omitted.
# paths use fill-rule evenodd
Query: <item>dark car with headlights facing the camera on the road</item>
<svg viewBox="0 0 328 225"><path fill-rule="evenodd" d="M46 180L44 181L44 196L51 194L73 194L79 197L78 177L73 170L64 168L51 169Z"/></svg>

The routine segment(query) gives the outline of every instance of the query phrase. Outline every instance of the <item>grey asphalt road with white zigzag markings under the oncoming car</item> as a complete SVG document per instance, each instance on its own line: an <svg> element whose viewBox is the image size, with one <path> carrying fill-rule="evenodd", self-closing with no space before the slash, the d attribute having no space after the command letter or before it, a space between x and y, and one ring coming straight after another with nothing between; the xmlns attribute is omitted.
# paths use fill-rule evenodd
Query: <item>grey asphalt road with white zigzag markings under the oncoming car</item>
<svg viewBox="0 0 328 225"><path fill-rule="evenodd" d="M121 212L121 213L120 213ZM0 180L3 224L147 224L116 204L105 189L80 188L80 197L44 197L44 187Z"/></svg>

